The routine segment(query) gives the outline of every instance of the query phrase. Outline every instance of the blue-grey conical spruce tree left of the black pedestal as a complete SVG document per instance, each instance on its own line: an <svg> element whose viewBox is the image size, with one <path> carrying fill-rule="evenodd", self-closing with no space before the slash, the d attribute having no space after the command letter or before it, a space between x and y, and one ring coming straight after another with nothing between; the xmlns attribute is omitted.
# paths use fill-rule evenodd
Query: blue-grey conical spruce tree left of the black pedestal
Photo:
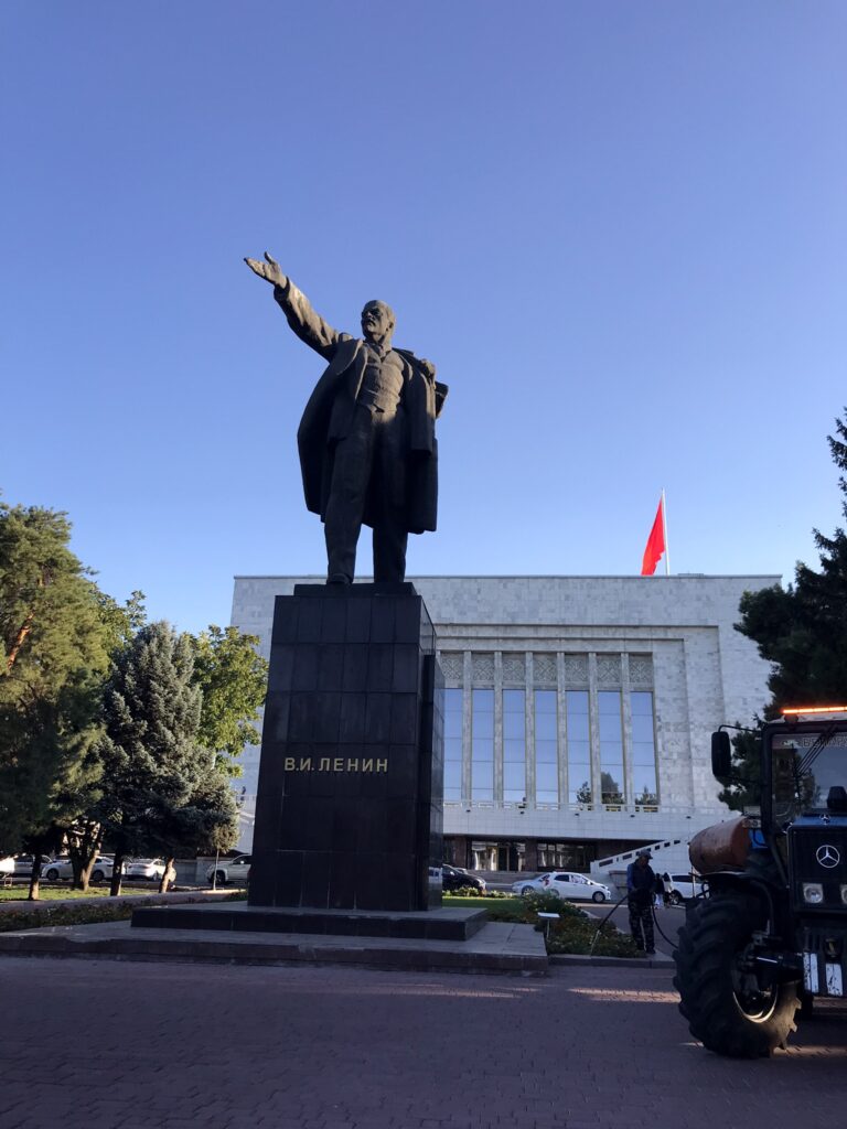
<svg viewBox="0 0 847 1129"><path fill-rule="evenodd" d="M202 692L193 645L164 622L136 633L119 655L105 693L103 795L95 813L115 850L112 892L123 859L232 839L237 813L228 784L199 741ZM227 840L228 841L228 840Z"/></svg>

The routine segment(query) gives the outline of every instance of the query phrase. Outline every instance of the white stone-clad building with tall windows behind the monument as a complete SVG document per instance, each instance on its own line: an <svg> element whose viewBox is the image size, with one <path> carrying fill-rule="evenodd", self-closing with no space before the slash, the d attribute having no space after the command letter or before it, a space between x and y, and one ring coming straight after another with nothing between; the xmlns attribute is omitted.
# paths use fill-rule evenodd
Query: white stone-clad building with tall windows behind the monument
<svg viewBox="0 0 847 1129"><path fill-rule="evenodd" d="M477 869L587 869L727 814L709 735L768 699L733 629L778 576L413 577L445 676L445 858ZM321 577L236 577L232 622L270 648L273 599ZM243 758L241 849L259 749Z"/></svg>

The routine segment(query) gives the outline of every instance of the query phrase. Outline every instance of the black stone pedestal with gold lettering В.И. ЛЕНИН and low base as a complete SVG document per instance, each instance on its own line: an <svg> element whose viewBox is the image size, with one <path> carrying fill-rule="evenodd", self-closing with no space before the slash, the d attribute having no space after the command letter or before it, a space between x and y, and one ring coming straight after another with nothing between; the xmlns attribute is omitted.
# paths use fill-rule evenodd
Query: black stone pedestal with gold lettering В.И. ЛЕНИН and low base
<svg viewBox="0 0 847 1129"><path fill-rule="evenodd" d="M442 688L411 584L278 596L248 904L133 925L465 940L483 917L439 912Z"/></svg>

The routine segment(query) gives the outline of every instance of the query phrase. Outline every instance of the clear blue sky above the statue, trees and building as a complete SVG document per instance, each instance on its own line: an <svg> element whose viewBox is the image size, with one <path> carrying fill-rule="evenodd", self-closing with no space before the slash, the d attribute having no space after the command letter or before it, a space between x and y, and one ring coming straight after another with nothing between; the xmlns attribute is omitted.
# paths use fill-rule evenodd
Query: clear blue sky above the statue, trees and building
<svg viewBox="0 0 847 1129"><path fill-rule="evenodd" d="M846 33L840 0L6 0L5 500L189 630L234 574L323 571L323 362L270 248L451 386L412 575L637 574L664 485L674 572L789 578L840 518Z"/></svg>

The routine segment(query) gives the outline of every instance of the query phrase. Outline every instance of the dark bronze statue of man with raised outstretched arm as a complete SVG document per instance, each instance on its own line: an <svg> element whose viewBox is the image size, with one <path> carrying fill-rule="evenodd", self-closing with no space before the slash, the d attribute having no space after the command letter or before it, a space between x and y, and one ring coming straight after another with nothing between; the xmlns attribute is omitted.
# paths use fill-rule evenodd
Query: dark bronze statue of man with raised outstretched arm
<svg viewBox="0 0 847 1129"><path fill-rule="evenodd" d="M339 333L265 252L245 259L273 286L288 324L329 361L297 431L306 506L324 523L328 584L352 584L363 522L374 531L374 580L403 580L410 533L435 530L435 421L447 395L435 366L393 349L394 314L361 312L363 338Z"/></svg>

